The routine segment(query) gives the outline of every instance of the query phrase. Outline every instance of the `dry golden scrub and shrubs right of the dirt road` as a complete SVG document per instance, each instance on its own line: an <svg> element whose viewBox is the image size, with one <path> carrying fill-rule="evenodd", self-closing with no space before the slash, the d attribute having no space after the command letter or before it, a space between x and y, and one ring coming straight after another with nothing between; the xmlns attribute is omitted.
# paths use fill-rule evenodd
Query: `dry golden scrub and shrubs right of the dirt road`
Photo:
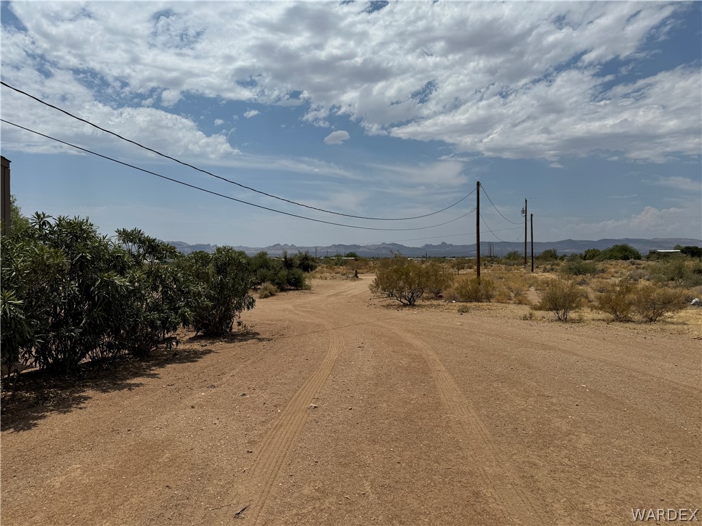
<svg viewBox="0 0 702 526"><path fill-rule="evenodd" d="M524 270L524 253L513 251L482 258L480 278L470 258L408 259L394 254L371 261L366 270L376 274L373 292L405 305L436 299L493 302L529 306L525 319L544 311L559 321L571 321L578 313L579 320L587 309L607 321L654 323L702 297L702 249L676 248L681 252L648 257L625 244L573 255L545 250L535 258L534 273ZM429 276L445 279L432 289Z"/></svg>

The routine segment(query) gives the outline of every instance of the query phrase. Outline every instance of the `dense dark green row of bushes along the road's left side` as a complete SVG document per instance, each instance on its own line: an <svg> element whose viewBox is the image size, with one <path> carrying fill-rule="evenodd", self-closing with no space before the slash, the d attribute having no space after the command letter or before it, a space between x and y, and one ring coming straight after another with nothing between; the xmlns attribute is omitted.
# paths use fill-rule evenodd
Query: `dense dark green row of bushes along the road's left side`
<svg viewBox="0 0 702 526"><path fill-rule="evenodd" d="M139 229L102 236L80 217L22 217L2 237L0 362L52 374L178 345L179 328L220 337L261 296L310 288L309 254L248 257L231 247L183 255Z"/></svg>

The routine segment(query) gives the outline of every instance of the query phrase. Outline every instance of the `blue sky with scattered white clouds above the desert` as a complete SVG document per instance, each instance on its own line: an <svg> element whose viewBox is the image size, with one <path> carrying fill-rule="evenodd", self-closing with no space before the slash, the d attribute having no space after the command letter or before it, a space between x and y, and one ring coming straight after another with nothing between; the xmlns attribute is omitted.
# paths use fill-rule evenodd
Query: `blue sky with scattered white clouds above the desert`
<svg viewBox="0 0 702 526"><path fill-rule="evenodd" d="M270 194L394 218L479 180L507 218L483 194L482 241L523 240L524 198L537 241L702 238L701 2L2 2L0 14L4 82ZM2 119L126 163L397 230L253 208L2 123L25 215L219 245L475 243L475 194L418 220L329 215L0 94Z"/></svg>

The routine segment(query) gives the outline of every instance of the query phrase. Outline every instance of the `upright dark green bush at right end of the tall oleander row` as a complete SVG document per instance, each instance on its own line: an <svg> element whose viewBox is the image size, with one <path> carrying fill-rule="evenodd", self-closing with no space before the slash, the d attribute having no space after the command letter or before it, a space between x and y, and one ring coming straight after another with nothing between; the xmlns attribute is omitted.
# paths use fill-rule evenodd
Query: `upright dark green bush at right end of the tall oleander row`
<svg viewBox="0 0 702 526"><path fill-rule="evenodd" d="M196 286L192 327L204 335L232 332L241 324L241 311L253 309L249 295L249 258L231 247L218 247L213 254L192 252L183 258L187 275Z"/></svg>

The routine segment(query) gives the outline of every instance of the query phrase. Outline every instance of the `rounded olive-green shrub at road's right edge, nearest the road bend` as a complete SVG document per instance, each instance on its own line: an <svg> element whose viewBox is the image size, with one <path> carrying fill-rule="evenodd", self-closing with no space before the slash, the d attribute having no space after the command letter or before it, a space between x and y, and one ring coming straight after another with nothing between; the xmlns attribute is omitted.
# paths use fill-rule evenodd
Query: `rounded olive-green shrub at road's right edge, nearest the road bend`
<svg viewBox="0 0 702 526"><path fill-rule="evenodd" d="M371 283L373 292L397 299L403 305L413 305L427 290L425 269L417 262L397 252L378 263L376 278Z"/></svg>

